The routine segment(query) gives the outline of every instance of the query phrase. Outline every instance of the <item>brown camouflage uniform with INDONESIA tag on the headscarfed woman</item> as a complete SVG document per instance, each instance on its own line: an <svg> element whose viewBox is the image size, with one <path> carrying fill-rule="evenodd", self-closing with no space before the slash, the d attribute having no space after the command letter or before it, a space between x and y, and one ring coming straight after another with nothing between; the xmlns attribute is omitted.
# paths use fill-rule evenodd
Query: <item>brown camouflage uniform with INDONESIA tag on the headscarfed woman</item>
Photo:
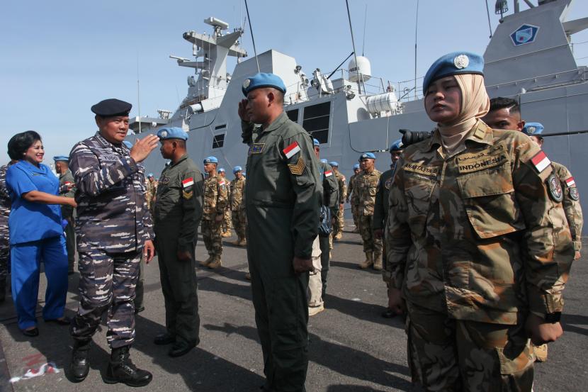
<svg viewBox="0 0 588 392"><path fill-rule="evenodd" d="M427 391L531 391L526 315L562 310L574 253L543 157L479 121L452 157L436 130L398 161L384 277L407 301L412 380Z"/></svg>

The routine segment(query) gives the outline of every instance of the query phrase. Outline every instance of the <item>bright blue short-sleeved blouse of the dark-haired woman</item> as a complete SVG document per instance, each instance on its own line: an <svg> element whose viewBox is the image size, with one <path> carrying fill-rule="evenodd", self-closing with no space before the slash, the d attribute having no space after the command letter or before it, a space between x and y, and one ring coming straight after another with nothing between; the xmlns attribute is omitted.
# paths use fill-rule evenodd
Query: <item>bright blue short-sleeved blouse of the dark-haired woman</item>
<svg viewBox="0 0 588 392"><path fill-rule="evenodd" d="M12 199L9 216L10 244L38 241L63 235L61 208L57 204L26 201L22 196L30 191L59 194L60 180L45 164L36 167L18 161L6 171L6 188Z"/></svg>

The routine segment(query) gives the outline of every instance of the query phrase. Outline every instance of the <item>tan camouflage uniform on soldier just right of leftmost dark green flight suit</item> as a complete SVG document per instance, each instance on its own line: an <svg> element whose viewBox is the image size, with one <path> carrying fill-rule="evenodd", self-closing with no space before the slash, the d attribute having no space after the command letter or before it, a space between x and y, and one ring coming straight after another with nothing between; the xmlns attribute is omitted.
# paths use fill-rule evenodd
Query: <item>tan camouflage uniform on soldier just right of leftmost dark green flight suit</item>
<svg viewBox="0 0 588 392"><path fill-rule="evenodd" d="M225 179L219 174L205 179L202 237L210 257L204 264L209 264L215 258L220 259L222 254L222 220L218 222L215 218L217 215L224 216L227 202L228 191Z"/></svg>

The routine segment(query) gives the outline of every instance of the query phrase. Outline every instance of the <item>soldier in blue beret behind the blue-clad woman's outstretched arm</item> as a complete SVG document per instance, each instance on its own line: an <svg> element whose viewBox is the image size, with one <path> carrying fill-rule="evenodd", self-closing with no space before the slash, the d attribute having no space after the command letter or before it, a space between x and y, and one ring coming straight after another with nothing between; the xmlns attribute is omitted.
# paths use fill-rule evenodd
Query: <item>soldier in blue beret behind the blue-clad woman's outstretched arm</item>
<svg viewBox="0 0 588 392"><path fill-rule="evenodd" d="M74 197L76 194L75 181L72 172L69 171L69 157L53 157L55 161L55 172L60 175L60 196ZM74 273L74 264L76 260L76 232L74 224L74 211L72 206L61 206L62 219L67 220L65 226L65 247L67 249L67 274Z"/></svg>

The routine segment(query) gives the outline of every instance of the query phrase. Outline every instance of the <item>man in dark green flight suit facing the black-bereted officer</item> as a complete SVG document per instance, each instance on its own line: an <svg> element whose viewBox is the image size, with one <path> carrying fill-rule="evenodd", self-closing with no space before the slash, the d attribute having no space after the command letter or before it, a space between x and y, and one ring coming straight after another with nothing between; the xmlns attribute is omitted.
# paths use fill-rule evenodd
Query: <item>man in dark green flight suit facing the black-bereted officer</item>
<svg viewBox="0 0 588 392"><path fill-rule="evenodd" d="M162 128L157 136L162 142L162 156L171 159L171 164L159 178L153 213L167 329L155 337L154 343L174 343L169 356L180 357L200 342L195 252L204 178L186 153L186 132Z"/></svg>

